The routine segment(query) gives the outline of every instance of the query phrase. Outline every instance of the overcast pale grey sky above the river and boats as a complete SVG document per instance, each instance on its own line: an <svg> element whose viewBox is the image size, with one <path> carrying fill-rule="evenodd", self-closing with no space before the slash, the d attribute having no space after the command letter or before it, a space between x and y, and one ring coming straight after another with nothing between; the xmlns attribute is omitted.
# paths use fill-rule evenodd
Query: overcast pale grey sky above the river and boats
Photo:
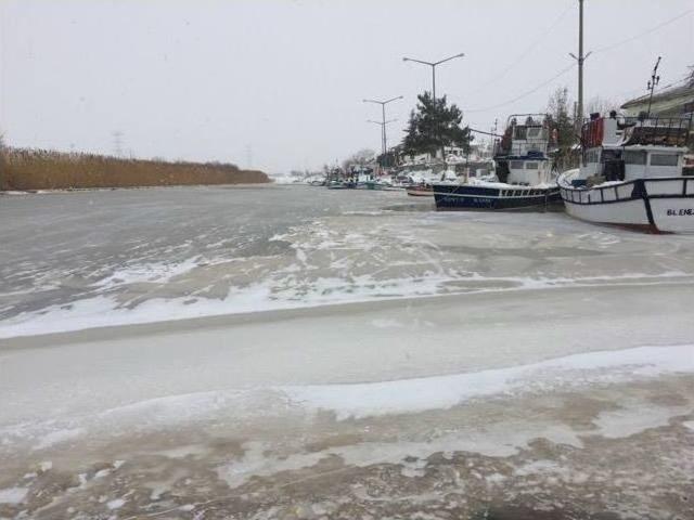
<svg viewBox="0 0 694 520"><path fill-rule="evenodd" d="M586 0L586 98L645 92L694 65L692 0ZM0 131L17 146L316 168L402 136L430 89L489 129L576 92L578 0L0 0ZM668 23L669 22L669 23ZM665 25L661 25L665 24ZM661 26L660 26L661 25ZM660 26L658 28L658 26ZM651 31L651 29L654 29ZM626 41L630 40L630 41ZM535 92L509 103L537 87Z"/></svg>

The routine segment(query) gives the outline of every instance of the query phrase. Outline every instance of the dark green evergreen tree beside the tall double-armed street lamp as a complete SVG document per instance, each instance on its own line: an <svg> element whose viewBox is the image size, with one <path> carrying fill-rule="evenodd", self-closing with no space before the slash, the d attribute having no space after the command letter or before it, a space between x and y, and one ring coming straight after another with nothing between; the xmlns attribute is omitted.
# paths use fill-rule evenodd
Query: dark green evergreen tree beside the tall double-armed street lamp
<svg viewBox="0 0 694 520"><path fill-rule="evenodd" d="M402 142L404 153L434 155L444 146L458 146L468 153L473 138L468 127L461 127L461 109L453 104L447 106L446 96L434 101L428 92L417 95L417 100Z"/></svg>

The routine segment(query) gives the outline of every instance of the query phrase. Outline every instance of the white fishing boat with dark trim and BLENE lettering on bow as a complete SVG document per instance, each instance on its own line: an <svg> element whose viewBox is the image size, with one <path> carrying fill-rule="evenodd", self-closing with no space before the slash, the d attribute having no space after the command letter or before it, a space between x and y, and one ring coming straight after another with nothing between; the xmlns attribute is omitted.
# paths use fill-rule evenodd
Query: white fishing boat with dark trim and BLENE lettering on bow
<svg viewBox="0 0 694 520"><path fill-rule="evenodd" d="M683 172L691 127L691 114L592 114L581 129L580 167L558 178L566 211L600 224L693 233L694 177Z"/></svg>

